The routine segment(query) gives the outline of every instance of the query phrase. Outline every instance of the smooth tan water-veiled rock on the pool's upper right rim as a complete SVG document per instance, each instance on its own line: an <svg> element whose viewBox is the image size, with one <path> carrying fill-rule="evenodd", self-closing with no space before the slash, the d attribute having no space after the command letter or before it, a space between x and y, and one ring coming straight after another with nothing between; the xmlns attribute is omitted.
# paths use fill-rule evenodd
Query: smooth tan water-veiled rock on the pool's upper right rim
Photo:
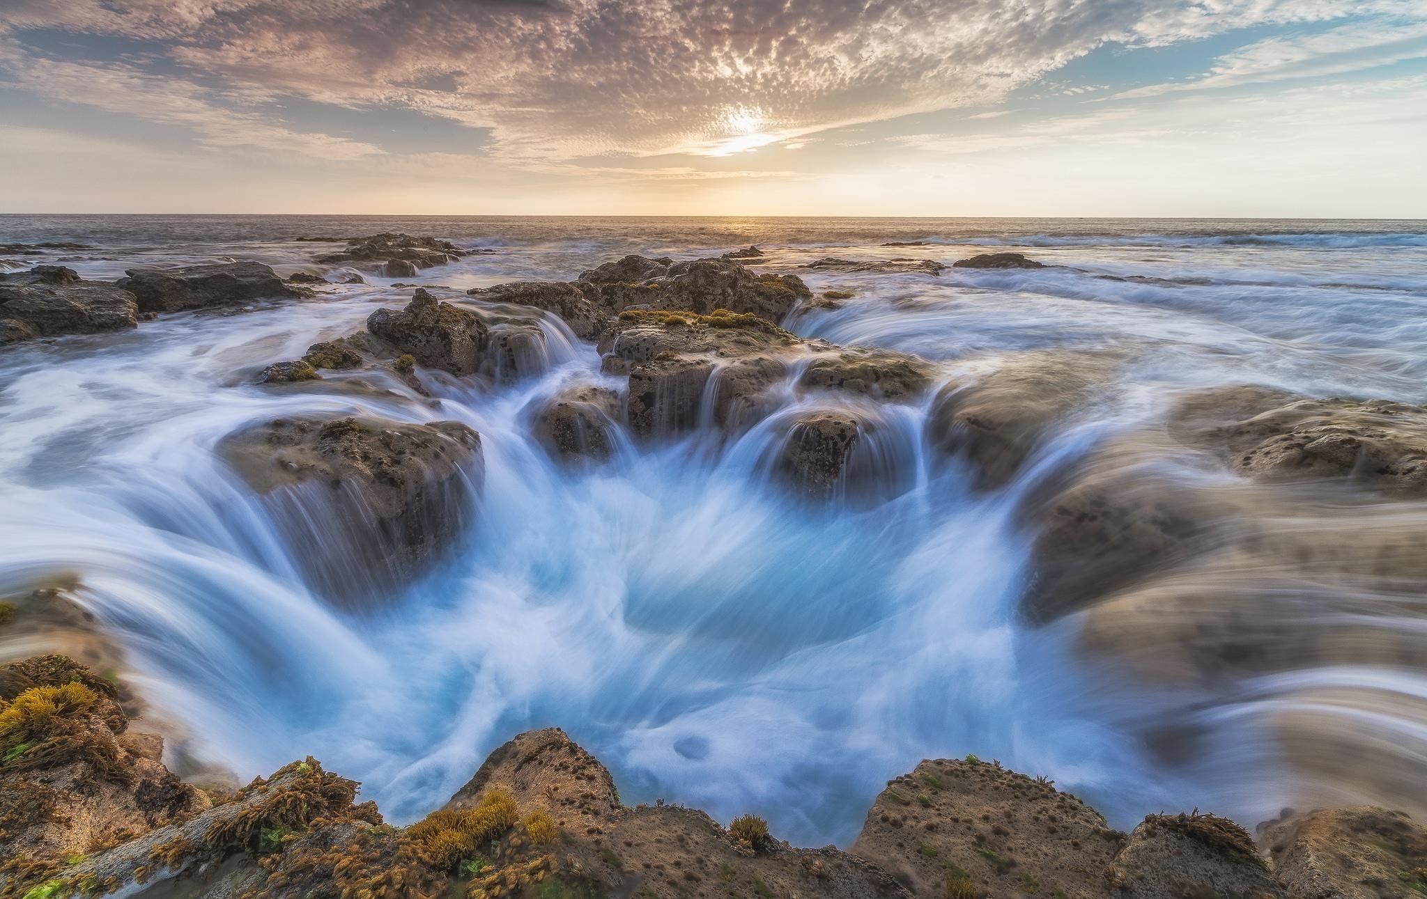
<svg viewBox="0 0 1427 899"><path fill-rule="evenodd" d="M1025 352L975 381L942 387L932 402L928 438L970 464L976 487L993 489L1019 474L1052 427L1089 405L1109 382L1113 357Z"/></svg>

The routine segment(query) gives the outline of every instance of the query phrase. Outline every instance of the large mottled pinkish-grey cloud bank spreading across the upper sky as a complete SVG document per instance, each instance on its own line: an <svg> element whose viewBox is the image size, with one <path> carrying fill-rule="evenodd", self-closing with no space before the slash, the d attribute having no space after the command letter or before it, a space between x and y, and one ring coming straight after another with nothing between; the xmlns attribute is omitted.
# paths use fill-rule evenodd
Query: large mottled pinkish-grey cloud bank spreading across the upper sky
<svg viewBox="0 0 1427 899"><path fill-rule="evenodd" d="M183 76L27 50L23 87L195 128L208 146L324 158L370 144L244 103L402 107L492 128L514 163L726 156L856 123L990 106L1104 43L1406 14L1408 0L9 0L0 33L156 41ZM31 74L30 68L50 74ZM59 76L57 88L49 83ZM93 78L98 90L78 90ZM66 96L66 91L70 91ZM758 110L756 130L741 110Z"/></svg>

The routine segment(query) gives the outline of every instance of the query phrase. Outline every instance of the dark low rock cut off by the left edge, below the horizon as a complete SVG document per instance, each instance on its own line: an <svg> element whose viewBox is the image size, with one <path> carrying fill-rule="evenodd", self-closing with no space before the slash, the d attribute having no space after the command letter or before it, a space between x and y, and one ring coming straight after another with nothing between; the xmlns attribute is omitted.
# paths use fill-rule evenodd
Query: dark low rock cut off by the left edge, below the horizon
<svg viewBox="0 0 1427 899"><path fill-rule="evenodd" d="M136 327L134 294L113 284L84 281L73 268L36 265L0 274L0 345Z"/></svg>

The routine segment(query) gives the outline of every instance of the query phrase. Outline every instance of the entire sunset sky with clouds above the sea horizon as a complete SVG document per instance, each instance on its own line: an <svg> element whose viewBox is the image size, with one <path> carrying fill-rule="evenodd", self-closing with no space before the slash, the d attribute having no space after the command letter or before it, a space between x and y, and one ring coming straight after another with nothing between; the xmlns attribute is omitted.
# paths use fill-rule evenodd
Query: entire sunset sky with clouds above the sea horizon
<svg viewBox="0 0 1427 899"><path fill-rule="evenodd" d="M0 211L1427 217L1427 0L0 0Z"/></svg>

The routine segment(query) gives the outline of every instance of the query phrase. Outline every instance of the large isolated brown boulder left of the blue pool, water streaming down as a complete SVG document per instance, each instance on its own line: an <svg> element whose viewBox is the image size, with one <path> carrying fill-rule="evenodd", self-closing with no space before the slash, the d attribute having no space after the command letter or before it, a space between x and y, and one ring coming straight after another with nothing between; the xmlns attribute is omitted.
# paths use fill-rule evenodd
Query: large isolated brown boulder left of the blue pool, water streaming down
<svg viewBox="0 0 1427 899"><path fill-rule="evenodd" d="M471 525L481 478L481 438L455 421L278 418L230 434L218 451L258 494L307 579L357 605L445 558Z"/></svg>

